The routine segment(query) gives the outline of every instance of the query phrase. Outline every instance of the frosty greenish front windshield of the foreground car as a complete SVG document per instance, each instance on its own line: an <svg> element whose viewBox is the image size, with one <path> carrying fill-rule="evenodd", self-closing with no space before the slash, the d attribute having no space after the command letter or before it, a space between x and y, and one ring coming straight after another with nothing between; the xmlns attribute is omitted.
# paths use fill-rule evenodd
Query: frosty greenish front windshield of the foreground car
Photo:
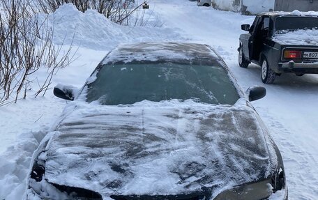
<svg viewBox="0 0 318 200"><path fill-rule="evenodd" d="M216 62L215 62L216 63ZM105 65L87 85L86 101L102 105L130 105L142 100L188 100L213 105L234 105L239 99L232 81L220 64L180 63Z"/></svg>

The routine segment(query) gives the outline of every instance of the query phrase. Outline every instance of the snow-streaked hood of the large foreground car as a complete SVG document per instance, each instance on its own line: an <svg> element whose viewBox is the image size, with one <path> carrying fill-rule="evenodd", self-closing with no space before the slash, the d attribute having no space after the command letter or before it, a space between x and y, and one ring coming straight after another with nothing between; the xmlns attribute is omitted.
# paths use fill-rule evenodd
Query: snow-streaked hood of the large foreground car
<svg viewBox="0 0 318 200"><path fill-rule="evenodd" d="M79 105L47 144L45 179L109 197L220 192L267 178L273 149L246 103Z"/></svg>

